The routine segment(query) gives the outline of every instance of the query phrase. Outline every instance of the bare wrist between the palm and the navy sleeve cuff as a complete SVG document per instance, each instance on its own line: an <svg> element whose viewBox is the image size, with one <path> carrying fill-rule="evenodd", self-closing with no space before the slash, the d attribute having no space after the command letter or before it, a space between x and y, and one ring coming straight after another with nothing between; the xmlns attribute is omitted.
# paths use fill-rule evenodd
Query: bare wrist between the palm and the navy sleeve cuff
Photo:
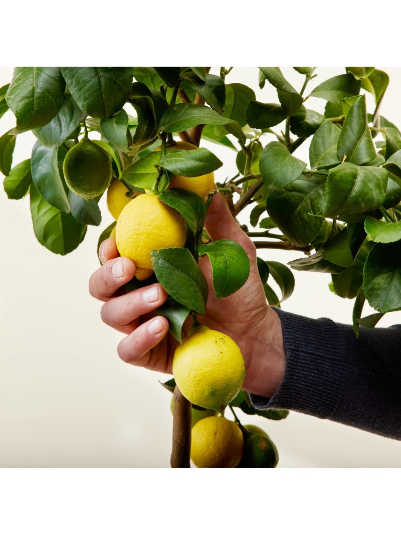
<svg viewBox="0 0 401 535"><path fill-rule="evenodd" d="M243 388L259 396L271 398L280 386L286 369L281 321L268 307L263 321L253 333L251 355L247 359Z"/></svg>

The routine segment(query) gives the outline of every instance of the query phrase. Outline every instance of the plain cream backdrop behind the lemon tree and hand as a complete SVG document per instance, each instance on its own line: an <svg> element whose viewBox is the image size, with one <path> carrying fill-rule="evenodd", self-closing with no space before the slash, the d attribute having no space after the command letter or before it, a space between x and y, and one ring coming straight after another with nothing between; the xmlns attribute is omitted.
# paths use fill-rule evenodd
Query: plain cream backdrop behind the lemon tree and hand
<svg viewBox="0 0 401 535"><path fill-rule="evenodd" d="M401 125L401 68L382 68L390 86L382 114ZM303 77L290 67L284 75L300 89ZM310 91L343 68L318 68ZM0 68L0 87L12 68ZM227 82L253 87L262 102L275 102L270 86L259 90L256 68L234 68ZM368 111L373 111L367 95ZM324 101L311 99L322 111ZM129 108L127 108L129 111ZM130 111L134 114L134 110ZM0 133L14 126L12 113L0 120ZM276 127L278 130L279 127ZM266 144L273 138L267 136ZM31 133L17 138L14 164L30 157ZM236 173L234 152L204 143L225 162L217 180ZM308 160L308 143L296 155ZM227 162L227 163L226 163ZM83 244L70 255L50 253L32 229L29 198L7 200L0 188L2 255L0 267L0 466L1 467L168 467L171 448L171 395L159 385L168 376L124 364L116 347L121 335L100 319L101 303L88 293L90 274L99 267L98 236L112 217L105 198L103 221L89 227ZM246 217L243 219L245 221ZM266 250L283 263L300 255ZM284 310L350 323L352 302L332 294L328 274L294 272L295 292ZM364 309L364 314L372 310ZM401 312L380 326L401 323ZM401 467L401 443L321 421L296 412L281 422L241 414L243 423L263 427L284 467Z"/></svg>

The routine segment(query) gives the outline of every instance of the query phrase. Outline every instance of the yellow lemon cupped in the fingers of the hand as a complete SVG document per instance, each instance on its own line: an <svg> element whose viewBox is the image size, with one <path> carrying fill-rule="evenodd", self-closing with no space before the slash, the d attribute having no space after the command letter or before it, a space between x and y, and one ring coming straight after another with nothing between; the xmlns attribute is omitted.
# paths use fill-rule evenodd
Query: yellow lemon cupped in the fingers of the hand
<svg viewBox="0 0 401 535"><path fill-rule="evenodd" d="M139 280L148 279L153 273L152 250L183 247L186 238L184 219L157 195L133 198L122 209L115 226L118 252L135 263L135 277Z"/></svg>

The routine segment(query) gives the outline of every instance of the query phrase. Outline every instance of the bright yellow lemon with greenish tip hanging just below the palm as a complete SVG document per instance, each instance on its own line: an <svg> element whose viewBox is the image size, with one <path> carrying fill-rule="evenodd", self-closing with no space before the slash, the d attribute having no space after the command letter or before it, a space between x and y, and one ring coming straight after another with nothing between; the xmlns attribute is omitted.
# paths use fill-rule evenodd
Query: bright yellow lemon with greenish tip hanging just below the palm
<svg viewBox="0 0 401 535"><path fill-rule="evenodd" d="M173 375L191 403L222 413L241 390L244 359L227 334L204 325L192 327L175 350Z"/></svg>

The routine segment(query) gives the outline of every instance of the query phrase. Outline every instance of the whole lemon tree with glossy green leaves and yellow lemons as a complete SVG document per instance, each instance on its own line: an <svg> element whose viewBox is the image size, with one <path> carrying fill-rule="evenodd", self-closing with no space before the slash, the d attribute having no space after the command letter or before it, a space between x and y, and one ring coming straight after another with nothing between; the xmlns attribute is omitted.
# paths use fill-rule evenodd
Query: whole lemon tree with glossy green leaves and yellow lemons
<svg viewBox="0 0 401 535"><path fill-rule="evenodd" d="M214 194L225 196L257 249L294 252L289 267L258 258L269 304L280 307L294 290L294 271L305 271L326 273L328 291L353 300L356 335L359 326L374 327L401 309L401 131L380 113L387 73L344 67L322 80L319 68L294 67L293 86L279 67L259 67L259 87L276 94L267 102L244 83L231 83L232 68L16 67L0 88L0 117L16 118L0 136L4 189L10 199L29 196L37 240L66 255L83 243L88 227L101 226L99 243L115 236L120 253L137 263L127 291L159 281L169 295L158 314L179 344L175 376L189 398L174 405L174 433L187 437L174 466L189 465L191 402L199 411L205 407L197 403L233 412L231 423L244 440L239 467L274 465L276 454L271 439L246 430L237 412L271 421L288 414L252 407L235 347L229 352L238 359L221 364L232 369L230 384L219 379L220 364L212 366L213 384L197 382L213 351L189 371L180 366L184 356L195 360L211 335L203 330L193 347L196 335L183 335L188 318L197 327L196 315L205 313L209 287L199 257L210 260L217 299L249 276L238 243L211 241L204 232ZM36 138L32 154L13 161L17 136L27 131ZM231 152L237 171L226 173L204 141ZM295 155L302 144L309 147L307 162ZM102 221L102 195L110 224ZM375 314L364 316L365 302ZM174 378L164 386L181 394ZM226 425L227 418L213 418Z"/></svg>

